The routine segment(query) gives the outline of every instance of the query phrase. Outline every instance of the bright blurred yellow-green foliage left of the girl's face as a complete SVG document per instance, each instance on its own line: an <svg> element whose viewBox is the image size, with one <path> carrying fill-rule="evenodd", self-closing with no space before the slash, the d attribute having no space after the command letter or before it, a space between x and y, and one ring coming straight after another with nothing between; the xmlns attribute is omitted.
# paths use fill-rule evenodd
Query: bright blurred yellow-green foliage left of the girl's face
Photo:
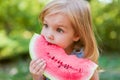
<svg viewBox="0 0 120 80"><path fill-rule="evenodd" d="M40 33L38 15L48 0L0 1L0 60L28 53L29 40Z"/></svg>

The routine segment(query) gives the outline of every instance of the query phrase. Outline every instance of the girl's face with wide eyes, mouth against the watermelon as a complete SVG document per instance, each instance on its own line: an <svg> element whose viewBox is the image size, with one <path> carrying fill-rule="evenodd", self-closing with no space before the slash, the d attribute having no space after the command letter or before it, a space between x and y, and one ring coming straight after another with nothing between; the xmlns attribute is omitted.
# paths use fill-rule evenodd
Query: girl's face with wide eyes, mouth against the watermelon
<svg viewBox="0 0 120 80"><path fill-rule="evenodd" d="M41 34L45 39L62 47L66 52L69 52L73 42L79 39L78 36L74 35L75 32L66 15L60 13L46 15L43 24Z"/></svg>

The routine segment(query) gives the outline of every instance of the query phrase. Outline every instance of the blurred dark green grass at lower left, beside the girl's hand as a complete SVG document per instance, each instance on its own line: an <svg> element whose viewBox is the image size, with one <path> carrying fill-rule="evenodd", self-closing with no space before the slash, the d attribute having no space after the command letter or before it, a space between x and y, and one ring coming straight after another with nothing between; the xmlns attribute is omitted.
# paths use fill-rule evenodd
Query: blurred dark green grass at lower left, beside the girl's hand
<svg viewBox="0 0 120 80"><path fill-rule="evenodd" d="M30 59L14 59L0 64L0 80L32 80L29 73Z"/></svg>

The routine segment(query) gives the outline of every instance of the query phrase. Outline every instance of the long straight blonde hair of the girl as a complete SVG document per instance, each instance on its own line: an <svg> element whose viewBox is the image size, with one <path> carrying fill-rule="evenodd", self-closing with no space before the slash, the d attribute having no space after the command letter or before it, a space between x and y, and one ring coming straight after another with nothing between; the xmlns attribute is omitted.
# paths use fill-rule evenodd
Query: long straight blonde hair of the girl
<svg viewBox="0 0 120 80"><path fill-rule="evenodd" d="M53 0L45 6L39 18L52 13L62 13L69 17L76 35L80 36L77 47L84 48L84 57L98 61L98 48L92 29L90 6L85 0Z"/></svg>

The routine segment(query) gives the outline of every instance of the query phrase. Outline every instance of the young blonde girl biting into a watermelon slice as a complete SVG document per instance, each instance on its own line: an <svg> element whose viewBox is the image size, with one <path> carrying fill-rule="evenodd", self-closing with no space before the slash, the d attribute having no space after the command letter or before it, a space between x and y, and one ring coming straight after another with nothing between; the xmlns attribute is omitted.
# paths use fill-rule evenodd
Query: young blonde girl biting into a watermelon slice
<svg viewBox="0 0 120 80"><path fill-rule="evenodd" d="M91 24L90 6L85 0L53 0L39 16L43 23L41 34L45 39L62 47L70 55L88 58L97 64L98 48ZM30 62L33 80L48 80L42 74L46 62ZM99 80L96 70L91 80Z"/></svg>

